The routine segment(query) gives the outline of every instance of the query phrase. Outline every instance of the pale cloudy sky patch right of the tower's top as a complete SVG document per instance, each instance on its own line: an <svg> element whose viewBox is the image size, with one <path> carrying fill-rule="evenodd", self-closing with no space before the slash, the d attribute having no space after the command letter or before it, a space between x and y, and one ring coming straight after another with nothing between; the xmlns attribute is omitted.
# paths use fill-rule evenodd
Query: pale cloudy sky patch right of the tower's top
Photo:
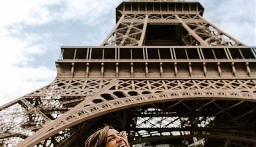
<svg viewBox="0 0 256 147"><path fill-rule="evenodd" d="M203 1L204 17L220 30L248 46L256 45L256 1Z"/></svg>

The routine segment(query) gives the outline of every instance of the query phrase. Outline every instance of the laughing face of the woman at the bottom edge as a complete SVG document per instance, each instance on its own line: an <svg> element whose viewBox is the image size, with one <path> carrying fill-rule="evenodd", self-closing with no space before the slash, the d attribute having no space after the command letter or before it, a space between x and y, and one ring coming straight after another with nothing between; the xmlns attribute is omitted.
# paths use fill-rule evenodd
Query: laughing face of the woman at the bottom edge
<svg viewBox="0 0 256 147"><path fill-rule="evenodd" d="M105 147L127 147L127 137L124 135L124 133L125 132L118 132L115 129L109 129Z"/></svg>

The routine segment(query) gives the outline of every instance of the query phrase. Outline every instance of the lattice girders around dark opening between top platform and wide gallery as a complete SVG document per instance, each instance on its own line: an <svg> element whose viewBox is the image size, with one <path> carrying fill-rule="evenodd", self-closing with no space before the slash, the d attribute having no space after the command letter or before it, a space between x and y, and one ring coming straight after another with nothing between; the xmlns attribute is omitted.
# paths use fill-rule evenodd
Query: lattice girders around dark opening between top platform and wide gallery
<svg viewBox="0 0 256 147"><path fill-rule="evenodd" d="M142 25L142 23L144 23L143 30L138 28L138 25ZM180 36L180 38L184 40L188 36L192 36L192 40L197 40L201 46L244 46L243 43L224 33L199 14L125 14L124 12L101 46L142 46L146 26L154 23L162 25L180 23L188 32L187 35ZM127 26L129 29L124 33ZM138 32L130 32L131 28ZM125 42L125 40L127 41ZM184 43L187 46L195 45L194 41Z"/></svg>

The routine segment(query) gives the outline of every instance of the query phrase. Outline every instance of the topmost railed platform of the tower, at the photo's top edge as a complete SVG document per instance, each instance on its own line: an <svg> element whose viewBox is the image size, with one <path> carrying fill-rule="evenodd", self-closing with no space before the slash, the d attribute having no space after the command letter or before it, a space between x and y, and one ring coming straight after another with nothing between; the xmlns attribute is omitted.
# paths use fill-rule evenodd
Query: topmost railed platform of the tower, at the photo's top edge
<svg viewBox="0 0 256 147"><path fill-rule="evenodd" d="M130 0L116 8L117 21L122 14L200 14L204 8L198 2L174 0Z"/></svg>

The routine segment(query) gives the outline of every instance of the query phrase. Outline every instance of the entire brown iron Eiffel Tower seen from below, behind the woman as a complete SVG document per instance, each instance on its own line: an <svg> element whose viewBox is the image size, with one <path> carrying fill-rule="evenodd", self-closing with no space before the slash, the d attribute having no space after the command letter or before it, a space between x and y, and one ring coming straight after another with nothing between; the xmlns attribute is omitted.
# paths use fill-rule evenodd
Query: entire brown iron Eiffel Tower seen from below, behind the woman
<svg viewBox="0 0 256 147"><path fill-rule="evenodd" d="M198 2L130 0L102 45L62 46L57 77L0 108L0 146L84 146L103 124L133 146L255 146L256 48Z"/></svg>

